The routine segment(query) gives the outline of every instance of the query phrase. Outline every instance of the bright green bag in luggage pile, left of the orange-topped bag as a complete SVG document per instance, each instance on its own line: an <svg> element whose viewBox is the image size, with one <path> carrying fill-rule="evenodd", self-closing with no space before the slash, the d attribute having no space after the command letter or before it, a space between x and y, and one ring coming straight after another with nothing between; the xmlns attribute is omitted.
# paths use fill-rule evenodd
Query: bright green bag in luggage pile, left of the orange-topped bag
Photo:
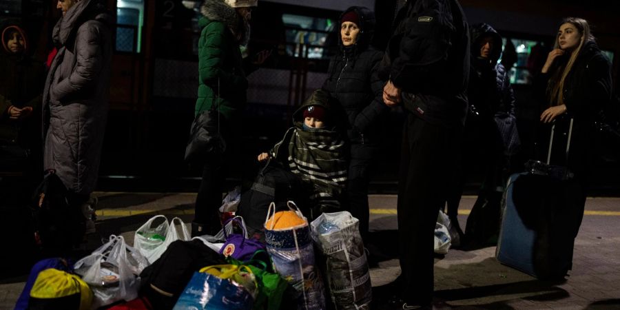
<svg viewBox="0 0 620 310"><path fill-rule="evenodd" d="M265 252L265 250L256 251L256 254ZM280 277L278 273L269 272L267 263L262 260L251 259L245 262L240 262L234 258L227 258L227 261L232 265L245 265L251 269L252 273L256 277L258 282L258 295L254 300L255 310L278 310L280 309L280 302L282 302L282 295L287 289L289 283Z"/></svg>

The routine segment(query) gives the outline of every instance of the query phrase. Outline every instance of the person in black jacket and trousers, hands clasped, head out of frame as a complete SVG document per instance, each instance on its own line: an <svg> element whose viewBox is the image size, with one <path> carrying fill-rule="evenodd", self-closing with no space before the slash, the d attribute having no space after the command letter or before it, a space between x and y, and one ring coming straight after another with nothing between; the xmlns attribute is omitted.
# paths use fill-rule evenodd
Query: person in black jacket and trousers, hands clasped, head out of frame
<svg viewBox="0 0 620 310"><path fill-rule="evenodd" d="M469 32L456 0L409 0L382 61L386 105L408 112L398 188L400 296L395 309L432 307L433 237L453 178L467 111Z"/></svg>

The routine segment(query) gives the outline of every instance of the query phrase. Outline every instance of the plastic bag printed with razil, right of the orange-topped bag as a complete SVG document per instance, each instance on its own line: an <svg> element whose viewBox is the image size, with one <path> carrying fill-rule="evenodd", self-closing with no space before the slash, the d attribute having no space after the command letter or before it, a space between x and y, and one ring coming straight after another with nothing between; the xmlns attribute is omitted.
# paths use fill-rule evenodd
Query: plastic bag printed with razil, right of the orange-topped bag
<svg viewBox="0 0 620 310"><path fill-rule="evenodd" d="M310 224L312 238L326 258L327 282L336 309L370 309L370 272L360 221L347 211L324 213Z"/></svg>

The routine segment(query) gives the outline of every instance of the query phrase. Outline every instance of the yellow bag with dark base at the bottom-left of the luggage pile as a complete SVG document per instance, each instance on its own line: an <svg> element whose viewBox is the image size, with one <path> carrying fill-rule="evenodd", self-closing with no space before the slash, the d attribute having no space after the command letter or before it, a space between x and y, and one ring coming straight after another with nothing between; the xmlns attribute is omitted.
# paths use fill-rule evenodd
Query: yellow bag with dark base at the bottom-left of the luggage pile
<svg viewBox="0 0 620 310"><path fill-rule="evenodd" d="M34 281L28 304L36 309L39 309L37 304L45 304L47 309L89 310L92 291L79 276L57 269L45 269Z"/></svg>

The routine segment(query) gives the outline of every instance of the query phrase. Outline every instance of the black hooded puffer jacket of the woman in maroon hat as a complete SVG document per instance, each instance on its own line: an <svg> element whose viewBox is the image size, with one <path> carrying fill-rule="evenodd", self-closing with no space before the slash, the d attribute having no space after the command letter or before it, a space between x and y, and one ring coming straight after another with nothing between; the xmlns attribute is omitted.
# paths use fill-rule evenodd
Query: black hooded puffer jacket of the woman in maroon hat
<svg viewBox="0 0 620 310"><path fill-rule="evenodd" d="M351 143L374 144L380 135L378 118L387 110L382 100L384 82L375 74L383 53L369 45L375 28L373 12L354 6L342 14L352 10L360 17L358 40L345 48L338 34L340 53L331 59L322 88L338 99L347 113L349 123L345 126Z"/></svg>

